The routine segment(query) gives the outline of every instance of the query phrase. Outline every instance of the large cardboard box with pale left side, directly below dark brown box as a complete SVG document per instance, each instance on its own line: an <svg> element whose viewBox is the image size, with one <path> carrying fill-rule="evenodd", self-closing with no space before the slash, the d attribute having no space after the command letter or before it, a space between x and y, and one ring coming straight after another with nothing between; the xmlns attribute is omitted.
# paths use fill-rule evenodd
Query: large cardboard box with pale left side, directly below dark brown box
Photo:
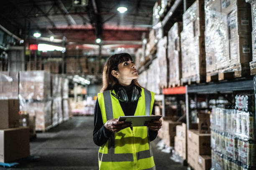
<svg viewBox="0 0 256 170"><path fill-rule="evenodd" d="M194 155L210 155L210 134L200 134L198 130L188 130L187 147L188 152L192 152Z"/></svg>

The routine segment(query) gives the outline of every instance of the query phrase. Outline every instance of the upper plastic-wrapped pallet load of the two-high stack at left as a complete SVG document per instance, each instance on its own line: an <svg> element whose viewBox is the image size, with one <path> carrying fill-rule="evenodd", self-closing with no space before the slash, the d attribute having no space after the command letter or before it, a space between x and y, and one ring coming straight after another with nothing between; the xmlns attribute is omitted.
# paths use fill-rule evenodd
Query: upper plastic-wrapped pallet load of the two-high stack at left
<svg viewBox="0 0 256 170"><path fill-rule="evenodd" d="M19 95L26 100L48 100L51 97L50 73L20 71Z"/></svg>

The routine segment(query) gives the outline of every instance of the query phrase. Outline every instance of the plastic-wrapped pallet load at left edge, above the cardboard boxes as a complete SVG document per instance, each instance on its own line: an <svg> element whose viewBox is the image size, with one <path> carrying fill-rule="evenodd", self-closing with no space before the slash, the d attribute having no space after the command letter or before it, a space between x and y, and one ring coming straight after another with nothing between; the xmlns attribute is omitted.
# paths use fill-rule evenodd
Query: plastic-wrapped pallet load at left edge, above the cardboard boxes
<svg viewBox="0 0 256 170"><path fill-rule="evenodd" d="M18 72L0 72L0 99L18 99Z"/></svg>

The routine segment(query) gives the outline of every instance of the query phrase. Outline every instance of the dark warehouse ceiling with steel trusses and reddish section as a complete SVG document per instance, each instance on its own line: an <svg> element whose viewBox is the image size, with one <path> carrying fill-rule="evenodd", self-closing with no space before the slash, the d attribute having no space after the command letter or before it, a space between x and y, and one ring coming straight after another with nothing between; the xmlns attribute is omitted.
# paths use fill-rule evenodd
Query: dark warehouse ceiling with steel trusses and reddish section
<svg viewBox="0 0 256 170"><path fill-rule="evenodd" d="M76 6L74 0L1 0L0 24L23 39L30 35L26 36L30 41L39 31L41 41L54 36L59 43L65 36L70 45L95 44L99 37L104 44L138 45L151 27L156 0L85 2L85 6ZM121 14L120 6L128 10Z"/></svg>

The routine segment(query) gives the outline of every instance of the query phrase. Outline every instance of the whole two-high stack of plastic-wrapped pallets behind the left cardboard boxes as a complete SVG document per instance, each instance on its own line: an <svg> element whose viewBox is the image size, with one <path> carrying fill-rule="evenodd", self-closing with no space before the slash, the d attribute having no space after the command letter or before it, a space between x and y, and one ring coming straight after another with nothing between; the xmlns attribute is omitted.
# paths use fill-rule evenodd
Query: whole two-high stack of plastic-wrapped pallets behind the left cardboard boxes
<svg viewBox="0 0 256 170"><path fill-rule="evenodd" d="M20 71L20 110L36 117L36 130L51 126L51 78L45 71Z"/></svg>

